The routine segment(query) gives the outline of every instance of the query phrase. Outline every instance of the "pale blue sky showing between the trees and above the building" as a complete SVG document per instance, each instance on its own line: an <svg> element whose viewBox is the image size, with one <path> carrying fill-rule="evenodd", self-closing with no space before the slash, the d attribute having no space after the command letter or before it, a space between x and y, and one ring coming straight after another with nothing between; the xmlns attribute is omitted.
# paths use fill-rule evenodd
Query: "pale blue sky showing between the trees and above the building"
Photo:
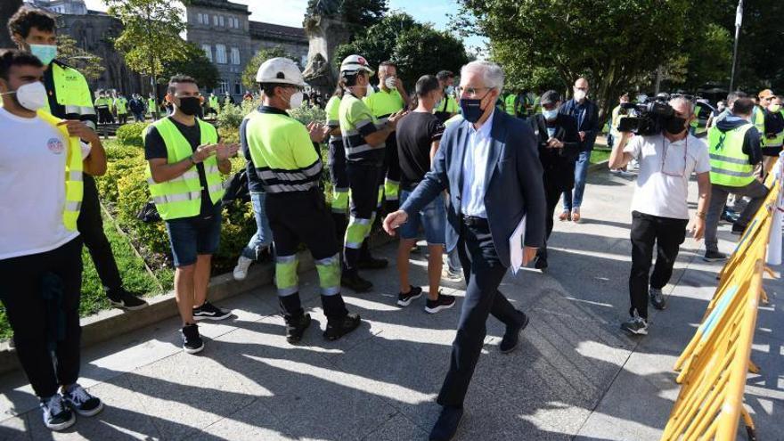
<svg viewBox="0 0 784 441"><path fill-rule="evenodd" d="M301 26L305 14L307 0L231 0L233 3L248 4L252 20L266 21L269 23L286 26ZM105 11L102 0L86 0L87 7L93 10ZM389 0L392 10L401 10L410 13L414 19L429 21L436 29L447 29L448 13L457 10L455 0ZM268 11L274 11L269 13ZM479 37L466 40L469 46L484 46Z"/></svg>

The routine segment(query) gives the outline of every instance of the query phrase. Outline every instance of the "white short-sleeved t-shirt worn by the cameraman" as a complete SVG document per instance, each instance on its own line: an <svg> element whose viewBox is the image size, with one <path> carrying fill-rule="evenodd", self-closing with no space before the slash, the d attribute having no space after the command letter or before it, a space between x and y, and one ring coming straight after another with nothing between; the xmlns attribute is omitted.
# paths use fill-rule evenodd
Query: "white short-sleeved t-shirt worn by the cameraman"
<svg viewBox="0 0 784 441"><path fill-rule="evenodd" d="M710 171L707 144L692 135L674 143L664 135L635 135L624 151L640 162L632 211L689 219L689 178Z"/></svg>

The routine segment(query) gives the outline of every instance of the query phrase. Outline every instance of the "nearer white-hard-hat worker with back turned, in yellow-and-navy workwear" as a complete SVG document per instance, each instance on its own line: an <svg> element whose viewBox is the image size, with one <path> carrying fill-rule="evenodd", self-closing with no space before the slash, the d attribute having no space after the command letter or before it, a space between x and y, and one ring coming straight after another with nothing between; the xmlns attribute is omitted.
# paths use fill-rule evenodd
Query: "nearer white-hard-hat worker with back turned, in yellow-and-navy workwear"
<svg viewBox="0 0 784 441"><path fill-rule="evenodd" d="M319 189L323 164L313 143L322 143L329 128L317 122L305 127L286 112L299 107L306 86L294 61L265 61L256 81L262 91L262 105L243 119L240 141L251 164L249 179L260 182L266 194L265 213L274 238L275 284L286 322L286 339L297 344L311 323L299 299L300 243L310 249L319 274L327 316L323 336L339 339L359 326L360 317L348 314L340 295L339 242L332 233L332 217Z"/></svg>

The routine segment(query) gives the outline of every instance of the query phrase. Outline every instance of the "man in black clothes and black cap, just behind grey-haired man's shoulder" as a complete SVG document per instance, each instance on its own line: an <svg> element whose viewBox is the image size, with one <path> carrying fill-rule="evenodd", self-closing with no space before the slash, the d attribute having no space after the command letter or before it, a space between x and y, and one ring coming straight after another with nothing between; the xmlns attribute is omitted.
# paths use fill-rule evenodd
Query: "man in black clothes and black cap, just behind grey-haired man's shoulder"
<svg viewBox="0 0 784 441"><path fill-rule="evenodd" d="M580 152L577 122L564 113L559 113L560 95L549 90L542 95L542 113L534 115L528 122L534 130L539 147L539 160L544 170L544 194L547 200L547 238L552 233L552 216L558 205L561 192L571 192L575 186L575 159ZM536 252L536 269L547 268L547 244Z"/></svg>

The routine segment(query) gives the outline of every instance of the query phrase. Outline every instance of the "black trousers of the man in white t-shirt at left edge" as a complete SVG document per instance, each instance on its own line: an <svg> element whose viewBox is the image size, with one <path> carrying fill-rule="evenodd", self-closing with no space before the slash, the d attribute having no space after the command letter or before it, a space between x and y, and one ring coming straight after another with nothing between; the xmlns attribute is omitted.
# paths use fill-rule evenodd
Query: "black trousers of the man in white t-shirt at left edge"
<svg viewBox="0 0 784 441"><path fill-rule="evenodd" d="M79 377L81 253L82 241L76 238L52 251L0 260L0 300L16 354L41 398Z"/></svg>

